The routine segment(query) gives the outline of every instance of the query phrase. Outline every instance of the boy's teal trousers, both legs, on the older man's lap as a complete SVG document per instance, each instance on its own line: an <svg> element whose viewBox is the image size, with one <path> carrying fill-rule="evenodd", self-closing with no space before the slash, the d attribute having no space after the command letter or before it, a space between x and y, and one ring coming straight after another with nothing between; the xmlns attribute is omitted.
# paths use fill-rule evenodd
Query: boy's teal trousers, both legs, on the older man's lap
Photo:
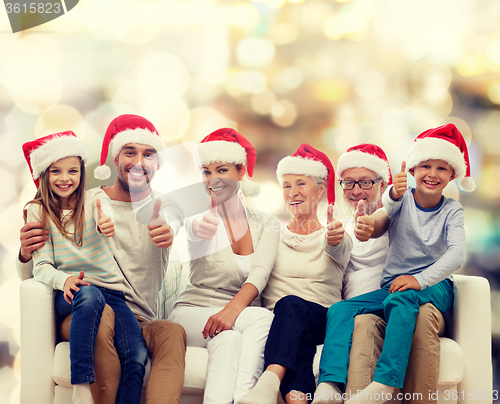
<svg viewBox="0 0 500 404"><path fill-rule="evenodd" d="M354 317L373 313L387 322L384 347L373 380L402 388L419 307L432 303L441 313L447 312L453 304L452 285L445 279L424 290L395 293L389 293L388 285L335 303L328 309L319 382L336 382L345 388Z"/></svg>

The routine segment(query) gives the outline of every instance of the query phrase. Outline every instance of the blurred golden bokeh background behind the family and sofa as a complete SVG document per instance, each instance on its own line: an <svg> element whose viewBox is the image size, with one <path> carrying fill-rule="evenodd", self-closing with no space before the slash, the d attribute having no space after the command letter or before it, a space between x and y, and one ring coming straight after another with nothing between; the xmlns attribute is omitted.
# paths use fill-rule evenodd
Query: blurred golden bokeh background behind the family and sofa
<svg viewBox="0 0 500 404"><path fill-rule="evenodd" d="M492 286L500 389L500 1L81 0L17 34L0 6L2 403L19 402L14 261L35 193L21 145L71 129L93 169L122 113L151 120L167 146L238 129L258 152L263 192L248 203L281 217L276 164L302 142L334 165L348 147L377 143L398 172L418 133L456 124L477 189L466 194L455 182L446 194L465 207L461 272Z"/></svg>

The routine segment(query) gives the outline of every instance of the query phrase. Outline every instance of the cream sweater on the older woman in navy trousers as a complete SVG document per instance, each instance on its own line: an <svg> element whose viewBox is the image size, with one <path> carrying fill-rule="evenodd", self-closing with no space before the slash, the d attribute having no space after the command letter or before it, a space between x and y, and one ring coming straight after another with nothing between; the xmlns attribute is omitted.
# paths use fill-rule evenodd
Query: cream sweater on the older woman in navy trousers
<svg viewBox="0 0 500 404"><path fill-rule="evenodd" d="M326 244L325 229L312 234L292 233L286 227L281 238L271 277L262 292L262 305L270 310L284 296L295 295L330 307L342 299L342 279L349 262L352 240Z"/></svg>

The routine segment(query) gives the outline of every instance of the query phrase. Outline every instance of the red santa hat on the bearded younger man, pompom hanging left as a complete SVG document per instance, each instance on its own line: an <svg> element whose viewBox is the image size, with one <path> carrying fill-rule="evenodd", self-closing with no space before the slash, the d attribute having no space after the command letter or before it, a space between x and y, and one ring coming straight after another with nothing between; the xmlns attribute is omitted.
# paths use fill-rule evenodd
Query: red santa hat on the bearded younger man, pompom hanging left
<svg viewBox="0 0 500 404"><path fill-rule="evenodd" d="M113 119L106 129L102 142L101 165L94 170L95 178L105 180L110 177L111 170L106 166L108 150L111 148L111 155L115 158L122 147L128 143L151 146L158 152L161 162L159 152L165 149L165 144L153 124L139 115L120 115Z"/></svg>

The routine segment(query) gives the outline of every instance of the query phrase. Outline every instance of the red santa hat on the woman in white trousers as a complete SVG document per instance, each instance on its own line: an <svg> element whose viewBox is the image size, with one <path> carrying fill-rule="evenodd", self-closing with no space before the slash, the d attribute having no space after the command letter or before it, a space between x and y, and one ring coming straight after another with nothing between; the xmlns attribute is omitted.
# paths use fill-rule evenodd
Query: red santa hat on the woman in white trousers
<svg viewBox="0 0 500 404"><path fill-rule="evenodd" d="M248 177L253 176L257 153L252 144L232 128L221 128L205 137L195 149L195 162L198 166L215 162L242 164ZM257 196L260 186L243 177L241 190L245 196Z"/></svg>

